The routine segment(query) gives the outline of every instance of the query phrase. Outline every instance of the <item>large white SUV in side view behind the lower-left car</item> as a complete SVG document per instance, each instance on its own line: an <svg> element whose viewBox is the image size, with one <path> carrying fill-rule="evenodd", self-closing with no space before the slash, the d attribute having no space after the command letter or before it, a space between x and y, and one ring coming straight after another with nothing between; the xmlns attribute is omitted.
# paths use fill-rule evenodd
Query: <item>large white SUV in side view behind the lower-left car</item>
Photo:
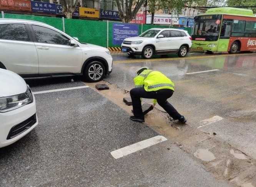
<svg viewBox="0 0 256 187"><path fill-rule="evenodd" d="M41 22L0 19L0 68L23 77L83 75L96 82L112 71L105 47L80 43Z"/></svg>

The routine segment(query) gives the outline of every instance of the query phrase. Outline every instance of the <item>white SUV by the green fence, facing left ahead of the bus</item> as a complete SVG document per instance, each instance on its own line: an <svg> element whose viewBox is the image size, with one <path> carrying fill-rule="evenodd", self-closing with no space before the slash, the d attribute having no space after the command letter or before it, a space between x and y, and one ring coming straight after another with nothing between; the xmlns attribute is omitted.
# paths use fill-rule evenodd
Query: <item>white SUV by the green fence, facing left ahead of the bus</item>
<svg viewBox="0 0 256 187"><path fill-rule="evenodd" d="M154 54L173 54L185 57L192 46L191 37L181 29L149 29L137 37L126 38L122 52L128 55L142 55L150 59Z"/></svg>

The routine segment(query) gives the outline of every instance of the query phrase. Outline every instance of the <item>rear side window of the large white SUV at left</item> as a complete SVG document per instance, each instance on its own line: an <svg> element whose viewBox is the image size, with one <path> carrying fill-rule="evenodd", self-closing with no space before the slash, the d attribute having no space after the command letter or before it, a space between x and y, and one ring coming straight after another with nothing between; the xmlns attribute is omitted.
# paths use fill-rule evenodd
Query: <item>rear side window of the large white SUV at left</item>
<svg viewBox="0 0 256 187"><path fill-rule="evenodd" d="M24 24L0 24L0 39L29 41Z"/></svg>

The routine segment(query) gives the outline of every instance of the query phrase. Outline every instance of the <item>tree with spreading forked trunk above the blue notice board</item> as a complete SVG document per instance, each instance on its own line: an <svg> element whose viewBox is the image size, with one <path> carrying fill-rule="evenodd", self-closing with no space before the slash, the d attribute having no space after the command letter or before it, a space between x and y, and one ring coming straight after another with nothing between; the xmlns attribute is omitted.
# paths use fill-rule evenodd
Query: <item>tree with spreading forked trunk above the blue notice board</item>
<svg viewBox="0 0 256 187"><path fill-rule="evenodd" d="M129 23L133 20L143 2L144 0L116 0L116 5L122 22Z"/></svg>

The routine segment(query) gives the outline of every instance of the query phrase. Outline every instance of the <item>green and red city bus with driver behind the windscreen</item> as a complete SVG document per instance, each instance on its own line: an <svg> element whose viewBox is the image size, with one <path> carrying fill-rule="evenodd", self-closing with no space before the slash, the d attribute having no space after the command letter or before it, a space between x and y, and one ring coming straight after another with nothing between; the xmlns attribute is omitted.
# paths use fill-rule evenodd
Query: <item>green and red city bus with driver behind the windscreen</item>
<svg viewBox="0 0 256 187"><path fill-rule="evenodd" d="M256 51L256 16L252 10L211 8L194 21L192 49L231 54Z"/></svg>

